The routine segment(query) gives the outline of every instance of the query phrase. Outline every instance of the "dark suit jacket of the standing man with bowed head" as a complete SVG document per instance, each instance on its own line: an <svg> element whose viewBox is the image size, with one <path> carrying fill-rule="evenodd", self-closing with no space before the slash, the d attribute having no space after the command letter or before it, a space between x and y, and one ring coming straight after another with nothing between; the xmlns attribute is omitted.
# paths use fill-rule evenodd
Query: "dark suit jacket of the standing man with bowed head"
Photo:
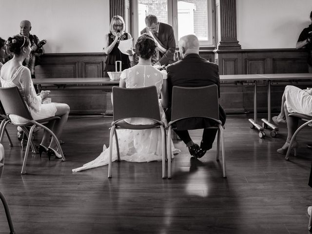
<svg viewBox="0 0 312 234"><path fill-rule="evenodd" d="M147 33L146 28L141 31L141 35ZM159 52L159 61L161 65L173 63L173 56L176 52L176 39L174 29L167 23L159 23L158 36L160 42L168 49L165 54Z"/></svg>

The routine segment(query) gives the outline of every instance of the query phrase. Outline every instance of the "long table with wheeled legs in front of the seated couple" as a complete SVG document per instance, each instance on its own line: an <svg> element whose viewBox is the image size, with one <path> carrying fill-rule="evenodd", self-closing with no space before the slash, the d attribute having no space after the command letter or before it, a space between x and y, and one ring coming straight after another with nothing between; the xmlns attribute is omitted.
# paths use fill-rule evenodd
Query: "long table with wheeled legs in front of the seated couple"
<svg viewBox="0 0 312 234"><path fill-rule="evenodd" d="M254 86L254 119L248 119L251 128L256 128L260 138L265 137L264 129L269 127L273 131L270 133L272 137L276 137L278 128L271 123L271 85L280 84L281 80L308 80L312 81L311 73L291 73L291 74L247 74L247 75L220 75L220 82L242 82L247 85ZM261 119L262 126L257 122L257 82L267 81L268 89L268 119ZM273 82L275 81L275 83ZM34 84L38 85L38 89L49 89L56 86L57 89L106 89L108 92L112 90L112 86L119 84L119 80L110 80L109 78L36 78L33 79Z"/></svg>

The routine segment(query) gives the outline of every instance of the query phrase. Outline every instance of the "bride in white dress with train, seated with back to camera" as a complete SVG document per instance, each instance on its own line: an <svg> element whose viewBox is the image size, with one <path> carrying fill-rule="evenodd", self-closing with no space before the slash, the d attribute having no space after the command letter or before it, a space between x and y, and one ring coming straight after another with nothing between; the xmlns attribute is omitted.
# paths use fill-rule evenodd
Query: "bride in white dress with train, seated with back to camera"
<svg viewBox="0 0 312 234"><path fill-rule="evenodd" d="M163 107L168 104L167 95L167 73L157 70L151 65L151 57L155 54L156 44L154 39L144 34L137 39L136 54L139 62L136 66L124 70L120 76L120 87L141 88L155 85L159 100L159 109L162 121L166 122ZM131 124L152 124L152 120L142 118L126 119ZM121 160L131 162L149 162L162 160L162 141L160 129L145 130L117 130L119 154ZM117 160L116 143L113 141L113 161ZM111 146L110 146L111 147ZM173 154L180 153L175 149L171 141ZM82 167L73 169L79 172L89 168L95 168L108 164L109 149L104 145L103 152L93 161L84 164Z"/></svg>

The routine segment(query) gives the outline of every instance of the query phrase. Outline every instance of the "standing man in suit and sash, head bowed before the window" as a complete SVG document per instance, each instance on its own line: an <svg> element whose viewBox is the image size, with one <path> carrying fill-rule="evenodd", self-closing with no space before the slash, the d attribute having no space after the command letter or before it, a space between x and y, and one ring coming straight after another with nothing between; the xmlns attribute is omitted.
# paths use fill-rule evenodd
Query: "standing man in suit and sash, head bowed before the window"
<svg viewBox="0 0 312 234"><path fill-rule="evenodd" d="M171 25L158 22L155 15L145 17L146 28L141 34L147 33L156 41L156 60L154 65L168 65L173 62L176 52L176 39Z"/></svg>

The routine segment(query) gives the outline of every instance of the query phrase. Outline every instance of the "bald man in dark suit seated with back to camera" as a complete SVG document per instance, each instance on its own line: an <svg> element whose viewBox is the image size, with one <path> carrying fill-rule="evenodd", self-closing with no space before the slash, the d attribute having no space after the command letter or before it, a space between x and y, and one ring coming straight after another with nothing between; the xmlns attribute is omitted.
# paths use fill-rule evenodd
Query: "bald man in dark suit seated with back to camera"
<svg viewBox="0 0 312 234"><path fill-rule="evenodd" d="M179 53L182 59L167 68L169 100L171 100L173 86L200 87L213 84L218 86L220 98L218 65L199 56L199 41L195 35L187 35L179 40ZM167 110L166 115L169 122L171 109ZM222 125L224 125L226 114L220 105L219 119L222 121ZM213 122L203 118L180 120L176 123L177 130L175 132L189 148L190 154L200 158L204 156L207 150L212 148L217 129L204 129L200 146L192 141L186 129L200 129L213 125Z"/></svg>

